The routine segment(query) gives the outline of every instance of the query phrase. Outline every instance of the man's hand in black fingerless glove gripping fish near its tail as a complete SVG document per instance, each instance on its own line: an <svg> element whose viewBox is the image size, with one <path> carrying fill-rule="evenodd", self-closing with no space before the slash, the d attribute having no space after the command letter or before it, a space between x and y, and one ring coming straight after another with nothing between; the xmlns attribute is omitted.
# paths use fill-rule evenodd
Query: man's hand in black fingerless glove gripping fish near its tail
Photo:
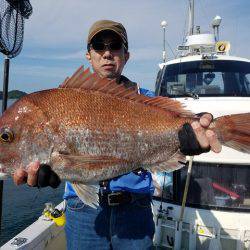
<svg viewBox="0 0 250 250"><path fill-rule="evenodd" d="M188 123L183 125L178 136L180 151L184 155L199 155L210 151L210 149L215 153L221 151L221 144L216 134L212 130L206 130L212 120L211 114L204 113L199 121L194 121L191 125Z"/></svg>

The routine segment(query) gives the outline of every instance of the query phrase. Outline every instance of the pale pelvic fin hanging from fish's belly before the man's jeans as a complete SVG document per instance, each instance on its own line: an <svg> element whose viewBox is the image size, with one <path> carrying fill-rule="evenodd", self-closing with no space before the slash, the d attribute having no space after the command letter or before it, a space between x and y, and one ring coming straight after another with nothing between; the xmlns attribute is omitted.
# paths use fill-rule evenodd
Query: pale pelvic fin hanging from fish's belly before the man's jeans
<svg viewBox="0 0 250 250"><path fill-rule="evenodd" d="M74 191L80 200L86 205L96 208L98 206L98 186L84 185L81 183L71 183Z"/></svg>

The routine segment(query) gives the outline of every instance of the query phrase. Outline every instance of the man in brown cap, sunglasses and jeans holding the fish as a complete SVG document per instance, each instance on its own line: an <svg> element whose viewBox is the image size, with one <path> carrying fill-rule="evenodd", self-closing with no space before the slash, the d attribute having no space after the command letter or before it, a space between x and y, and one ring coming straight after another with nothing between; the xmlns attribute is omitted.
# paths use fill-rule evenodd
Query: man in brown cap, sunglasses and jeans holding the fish
<svg viewBox="0 0 250 250"><path fill-rule="evenodd" d="M100 77L116 79L117 84L125 86L136 85L121 75L129 59L127 33L122 24L110 20L94 23L87 39L86 58ZM189 125L181 130L183 153L199 154L209 148L215 152L221 150L215 134L205 132L211 120L210 114L204 114L200 122L192 123L193 130ZM21 184L27 177L29 185L36 185L38 169L39 162L35 162L29 165L28 172L18 170L15 182ZM85 205L71 184L66 183L68 249L151 249L154 235L151 174L138 166L136 171L99 185L100 205L94 209Z"/></svg>

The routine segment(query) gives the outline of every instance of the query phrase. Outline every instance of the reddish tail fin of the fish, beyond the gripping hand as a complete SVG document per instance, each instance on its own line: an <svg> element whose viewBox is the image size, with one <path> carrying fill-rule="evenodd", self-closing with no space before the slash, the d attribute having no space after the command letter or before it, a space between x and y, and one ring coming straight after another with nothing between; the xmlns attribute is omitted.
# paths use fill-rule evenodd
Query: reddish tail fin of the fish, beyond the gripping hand
<svg viewBox="0 0 250 250"><path fill-rule="evenodd" d="M222 145L250 154L250 113L215 119L215 132Z"/></svg>

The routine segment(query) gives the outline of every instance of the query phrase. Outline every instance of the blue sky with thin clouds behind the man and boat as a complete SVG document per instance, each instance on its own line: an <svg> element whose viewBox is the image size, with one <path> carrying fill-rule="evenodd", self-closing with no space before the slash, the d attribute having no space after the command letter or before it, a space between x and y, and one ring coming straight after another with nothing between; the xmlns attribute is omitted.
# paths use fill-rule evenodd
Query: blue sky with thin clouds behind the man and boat
<svg viewBox="0 0 250 250"><path fill-rule="evenodd" d="M30 0L33 13L25 20L21 53L11 59L9 89L28 93L57 87L85 59L89 27L97 20L121 22L127 29L130 59L124 75L154 90L162 62L162 20L167 21L167 58L173 59L187 31L188 0ZM196 0L195 25L212 32L211 21L222 17L220 40L231 54L250 58L250 0ZM1 78L3 78L3 60ZM2 81L2 79L0 79Z"/></svg>

